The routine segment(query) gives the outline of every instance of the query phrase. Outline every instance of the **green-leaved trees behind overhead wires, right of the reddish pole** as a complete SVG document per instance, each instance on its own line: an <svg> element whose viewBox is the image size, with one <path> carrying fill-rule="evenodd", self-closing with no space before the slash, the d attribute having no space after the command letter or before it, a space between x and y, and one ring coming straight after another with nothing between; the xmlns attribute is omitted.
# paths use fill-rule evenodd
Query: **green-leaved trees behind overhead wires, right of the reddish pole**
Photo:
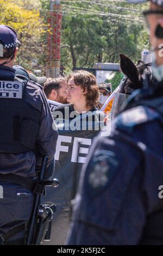
<svg viewBox="0 0 163 256"><path fill-rule="evenodd" d="M117 63L121 52L134 61L141 57L148 47L141 5L131 9L124 1L79 2L61 1L61 63L67 71L92 68L96 62Z"/></svg>

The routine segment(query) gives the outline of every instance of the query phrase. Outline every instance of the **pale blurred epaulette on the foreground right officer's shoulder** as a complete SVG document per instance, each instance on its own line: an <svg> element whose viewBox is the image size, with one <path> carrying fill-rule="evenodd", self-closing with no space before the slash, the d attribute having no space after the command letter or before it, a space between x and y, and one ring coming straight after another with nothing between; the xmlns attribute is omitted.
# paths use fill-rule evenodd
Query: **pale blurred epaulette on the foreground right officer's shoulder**
<svg viewBox="0 0 163 256"><path fill-rule="evenodd" d="M137 125L148 123L159 117L158 112L144 106L137 106L124 111L115 119L115 125L118 130L132 132Z"/></svg>

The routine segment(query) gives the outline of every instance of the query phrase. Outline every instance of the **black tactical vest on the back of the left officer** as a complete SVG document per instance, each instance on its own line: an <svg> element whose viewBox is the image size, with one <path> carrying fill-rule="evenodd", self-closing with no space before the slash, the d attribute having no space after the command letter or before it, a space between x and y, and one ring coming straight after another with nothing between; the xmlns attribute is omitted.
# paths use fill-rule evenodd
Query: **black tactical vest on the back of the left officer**
<svg viewBox="0 0 163 256"><path fill-rule="evenodd" d="M39 87L27 80L19 81L22 81L22 99L8 97L8 93L5 93L7 97L1 97L5 94L0 80L0 153L23 153L35 149L41 111L26 101L26 87L28 83L36 90Z"/></svg>

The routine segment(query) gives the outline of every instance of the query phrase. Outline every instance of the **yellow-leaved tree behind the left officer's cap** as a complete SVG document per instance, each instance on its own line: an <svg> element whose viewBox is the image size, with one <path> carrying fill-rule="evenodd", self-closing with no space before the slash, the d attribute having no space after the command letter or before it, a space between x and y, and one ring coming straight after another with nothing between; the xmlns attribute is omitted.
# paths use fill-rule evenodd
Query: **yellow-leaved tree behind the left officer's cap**
<svg viewBox="0 0 163 256"><path fill-rule="evenodd" d="M17 63L25 69L33 69L34 60L37 66L43 67L43 52L46 40L42 35L46 33L46 24L41 19L39 4L33 0L0 0L1 24L15 29L21 41L17 54Z"/></svg>

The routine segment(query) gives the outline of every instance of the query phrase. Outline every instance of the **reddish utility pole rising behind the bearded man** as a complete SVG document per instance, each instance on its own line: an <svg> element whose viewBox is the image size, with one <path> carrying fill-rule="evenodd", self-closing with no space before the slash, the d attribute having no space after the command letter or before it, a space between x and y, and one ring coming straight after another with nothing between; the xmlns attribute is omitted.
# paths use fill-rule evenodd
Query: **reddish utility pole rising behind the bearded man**
<svg viewBox="0 0 163 256"><path fill-rule="evenodd" d="M60 75L60 43L61 43L61 3L60 0L51 0L51 10L48 17L48 65L46 76Z"/></svg>

